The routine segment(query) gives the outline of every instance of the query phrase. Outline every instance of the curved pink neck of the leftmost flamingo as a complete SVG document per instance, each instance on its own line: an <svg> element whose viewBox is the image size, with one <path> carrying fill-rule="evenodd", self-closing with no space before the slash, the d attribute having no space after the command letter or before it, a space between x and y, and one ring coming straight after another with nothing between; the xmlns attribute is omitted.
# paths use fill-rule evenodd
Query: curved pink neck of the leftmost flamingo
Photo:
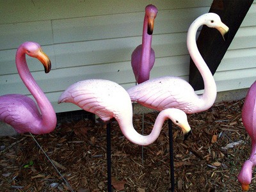
<svg viewBox="0 0 256 192"><path fill-rule="evenodd" d="M18 48L15 61L20 78L35 98L42 113L40 123L35 129L40 129L40 134L51 132L56 127L56 113L52 108L51 102L49 102L44 92L42 92L41 88L29 72L28 64L26 62L26 54L21 47Z"/></svg>

